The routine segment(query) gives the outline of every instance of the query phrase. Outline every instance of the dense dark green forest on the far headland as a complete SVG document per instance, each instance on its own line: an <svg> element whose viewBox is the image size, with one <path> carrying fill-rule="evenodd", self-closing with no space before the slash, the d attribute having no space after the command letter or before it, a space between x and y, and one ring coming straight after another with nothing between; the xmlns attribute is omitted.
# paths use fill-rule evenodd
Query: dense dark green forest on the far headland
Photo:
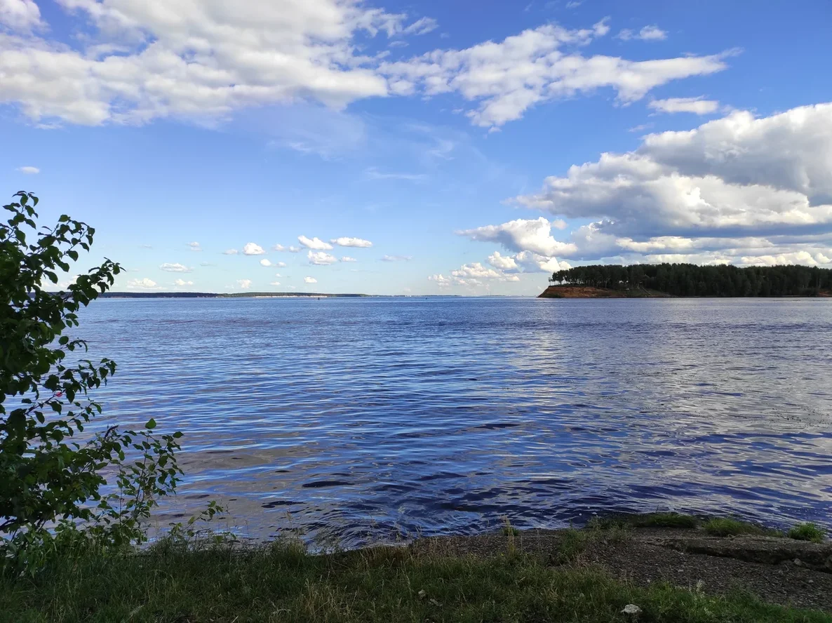
<svg viewBox="0 0 832 623"><path fill-rule="evenodd" d="M816 266L636 264L558 270L553 284L653 289L676 296L805 296L832 289L832 269Z"/></svg>

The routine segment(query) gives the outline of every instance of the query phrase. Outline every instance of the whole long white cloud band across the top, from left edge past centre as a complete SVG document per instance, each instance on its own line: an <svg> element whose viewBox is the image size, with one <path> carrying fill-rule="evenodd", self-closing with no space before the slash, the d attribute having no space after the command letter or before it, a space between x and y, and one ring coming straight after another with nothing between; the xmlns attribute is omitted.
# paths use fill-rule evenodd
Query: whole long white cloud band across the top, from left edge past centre
<svg viewBox="0 0 832 623"><path fill-rule="evenodd" d="M667 82L726 67L721 56L630 61L578 52L609 32L606 21L574 30L546 24L501 42L389 62L364 52L366 37L420 35L436 22L406 24L403 14L360 0L250 2L245 11L210 0L58 4L84 26L60 40L47 31L0 37L0 101L38 122L210 123L298 100L341 109L368 97L455 92L476 103L468 111L474 124L493 127L553 98L610 87L620 101L634 101ZM0 7L10 27L39 23L32 0L2 0ZM637 36L660 33L646 27Z"/></svg>

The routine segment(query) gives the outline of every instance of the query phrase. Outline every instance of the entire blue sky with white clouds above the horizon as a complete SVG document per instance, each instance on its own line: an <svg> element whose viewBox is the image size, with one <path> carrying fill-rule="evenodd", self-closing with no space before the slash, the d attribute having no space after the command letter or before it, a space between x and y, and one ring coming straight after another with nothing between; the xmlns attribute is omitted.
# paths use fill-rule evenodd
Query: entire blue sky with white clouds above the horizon
<svg viewBox="0 0 832 623"><path fill-rule="evenodd" d="M0 0L0 187L117 290L832 267L828 0Z"/></svg>

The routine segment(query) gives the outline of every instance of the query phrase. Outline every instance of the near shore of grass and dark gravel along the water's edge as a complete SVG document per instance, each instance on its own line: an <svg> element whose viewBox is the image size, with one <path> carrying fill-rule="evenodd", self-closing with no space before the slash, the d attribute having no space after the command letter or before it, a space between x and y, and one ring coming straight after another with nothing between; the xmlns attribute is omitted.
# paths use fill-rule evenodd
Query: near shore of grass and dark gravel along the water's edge
<svg viewBox="0 0 832 623"><path fill-rule="evenodd" d="M318 554L292 538L169 537L141 552L79 547L36 576L7 576L0 611L10 621L832 623L830 542L766 532L652 513Z"/></svg>

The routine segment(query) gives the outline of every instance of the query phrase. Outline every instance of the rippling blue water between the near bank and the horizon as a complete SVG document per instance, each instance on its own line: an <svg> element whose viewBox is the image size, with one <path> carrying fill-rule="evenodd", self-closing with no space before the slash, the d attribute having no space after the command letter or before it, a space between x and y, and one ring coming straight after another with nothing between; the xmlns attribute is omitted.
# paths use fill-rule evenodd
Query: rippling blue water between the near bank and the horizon
<svg viewBox="0 0 832 623"><path fill-rule="evenodd" d="M346 544L508 516L738 513L832 527L832 301L106 299L120 423L185 433L159 521Z"/></svg>

